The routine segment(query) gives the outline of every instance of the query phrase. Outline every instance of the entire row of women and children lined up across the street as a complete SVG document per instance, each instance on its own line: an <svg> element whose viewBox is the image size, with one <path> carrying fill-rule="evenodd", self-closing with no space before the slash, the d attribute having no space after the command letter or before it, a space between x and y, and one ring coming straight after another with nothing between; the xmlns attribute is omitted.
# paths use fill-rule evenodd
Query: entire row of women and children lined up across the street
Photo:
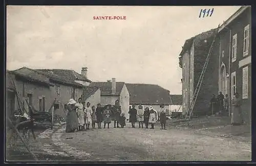
<svg viewBox="0 0 256 166"><path fill-rule="evenodd" d="M115 105L106 105L101 107L100 104L91 107L88 102L86 107L82 104L82 99L79 98L78 102L74 99L70 99L66 109L68 110L67 121L66 121L66 132L75 132L90 129L92 124L92 129L95 129L97 124L98 129L101 129L101 123L103 122L103 128L110 128L110 123L114 121L114 128L123 128L125 124L125 114L121 111L121 106L119 101L116 100ZM138 106L138 110L133 105L132 109L128 112L130 114L129 122L132 123L132 128L135 128L135 123L139 122L139 128L148 128L151 125L151 129L154 129L154 125L157 122L156 112L153 107L146 107L143 110L142 105ZM160 105L160 123L161 129L166 130L166 110L164 110L164 105ZM120 125L120 126L119 126Z"/></svg>

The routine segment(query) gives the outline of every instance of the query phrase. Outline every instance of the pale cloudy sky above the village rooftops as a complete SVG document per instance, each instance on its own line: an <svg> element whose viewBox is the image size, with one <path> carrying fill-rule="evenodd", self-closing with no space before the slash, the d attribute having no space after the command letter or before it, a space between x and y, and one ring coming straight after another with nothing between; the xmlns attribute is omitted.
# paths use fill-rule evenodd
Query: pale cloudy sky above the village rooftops
<svg viewBox="0 0 256 166"><path fill-rule="evenodd" d="M212 9L199 18L201 9ZM7 6L9 70L88 67L88 78L157 84L181 94L186 39L217 28L240 6ZM93 16L126 16L94 20Z"/></svg>

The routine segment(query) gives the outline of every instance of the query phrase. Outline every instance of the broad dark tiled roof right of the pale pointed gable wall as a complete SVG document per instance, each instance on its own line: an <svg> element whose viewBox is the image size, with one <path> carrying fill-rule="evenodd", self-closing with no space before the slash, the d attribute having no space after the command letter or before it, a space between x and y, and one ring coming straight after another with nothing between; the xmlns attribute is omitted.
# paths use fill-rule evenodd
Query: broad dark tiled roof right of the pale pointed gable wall
<svg viewBox="0 0 256 166"><path fill-rule="evenodd" d="M169 91L159 85L126 84L130 92L130 104L170 105Z"/></svg>

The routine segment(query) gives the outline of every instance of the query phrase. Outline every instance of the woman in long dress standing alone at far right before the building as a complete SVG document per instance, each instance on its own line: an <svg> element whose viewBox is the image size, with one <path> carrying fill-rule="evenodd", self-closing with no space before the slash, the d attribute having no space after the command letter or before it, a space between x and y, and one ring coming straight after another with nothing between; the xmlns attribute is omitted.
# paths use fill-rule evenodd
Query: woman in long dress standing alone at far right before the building
<svg viewBox="0 0 256 166"><path fill-rule="evenodd" d="M231 105L232 105L232 113L231 113L231 124L232 125L241 125L243 122L242 118L242 100L239 97L238 92L235 93L235 98L232 99Z"/></svg>

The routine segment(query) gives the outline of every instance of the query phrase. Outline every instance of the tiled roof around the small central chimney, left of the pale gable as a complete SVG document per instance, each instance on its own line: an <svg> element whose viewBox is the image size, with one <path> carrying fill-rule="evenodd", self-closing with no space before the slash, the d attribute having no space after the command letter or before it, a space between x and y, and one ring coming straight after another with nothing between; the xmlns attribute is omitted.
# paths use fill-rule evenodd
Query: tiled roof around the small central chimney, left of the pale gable
<svg viewBox="0 0 256 166"><path fill-rule="evenodd" d="M124 82L116 82L116 93L114 95L120 94L123 88ZM112 82L92 82L89 86L99 87L101 95L113 95L111 93Z"/></svg>

